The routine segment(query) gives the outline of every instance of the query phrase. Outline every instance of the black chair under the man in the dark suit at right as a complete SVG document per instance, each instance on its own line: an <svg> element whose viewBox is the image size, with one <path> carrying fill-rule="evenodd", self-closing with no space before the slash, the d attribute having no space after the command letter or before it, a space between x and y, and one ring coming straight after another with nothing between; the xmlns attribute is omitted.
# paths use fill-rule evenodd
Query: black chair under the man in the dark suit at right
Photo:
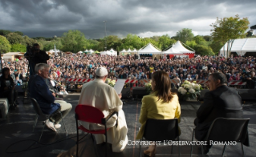
<svg viewBox="0 0 256 157"><path fill-rule="evenodd" d="M248 138L248 123L250 119L226 119L226 118L217 118L213 121L211 126L209 127L209 131L205 137L204 141L209 143L210 141L217 141L222 143L228 143L231 141L236 141L241 143L242 148L242 156L244 156L243 143L247 143L249 146L249 138ZM192 142L193 136L195 133L195 129L193 129L192 134ZM222 155L224 155L224 151L226 148L226 144L223 147ZM193 145L191 145L190 156L192 156ZM201 153L203 155L204 148L201 145Z"/></svg>

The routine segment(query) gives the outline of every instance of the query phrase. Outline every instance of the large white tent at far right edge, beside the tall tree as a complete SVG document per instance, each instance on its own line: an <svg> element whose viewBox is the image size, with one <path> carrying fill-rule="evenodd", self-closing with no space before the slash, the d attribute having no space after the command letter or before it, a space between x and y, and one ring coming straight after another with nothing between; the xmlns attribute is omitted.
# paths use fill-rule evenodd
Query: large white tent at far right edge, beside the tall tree
<svg viewBox="0 0 256 157"><path fill-rule="evenodd" d="M226 44L221 47L219 55L224 56L224 51L225 51L225 56L226 56L227 45L228 43L226 42ZM223 50L223 47L224 47L224 50ZM256 53L256 38L235 39L231 47L231 52L236 52L238 55L241 55L241 56L246 54L246 52Z"/></svg>

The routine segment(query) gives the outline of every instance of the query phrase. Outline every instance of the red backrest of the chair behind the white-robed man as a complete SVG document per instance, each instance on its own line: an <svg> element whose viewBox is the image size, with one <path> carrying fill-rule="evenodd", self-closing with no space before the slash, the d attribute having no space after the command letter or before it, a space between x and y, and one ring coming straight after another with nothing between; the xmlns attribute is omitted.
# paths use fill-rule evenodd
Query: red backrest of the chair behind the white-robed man
<svg viewBox="0 0 256 157"><path fill-rule="evenodd" d="M75 107L75 115L77 120L81 120L88 123L102 123L104 114L96 107L89 105L81 105Z"/></svg>

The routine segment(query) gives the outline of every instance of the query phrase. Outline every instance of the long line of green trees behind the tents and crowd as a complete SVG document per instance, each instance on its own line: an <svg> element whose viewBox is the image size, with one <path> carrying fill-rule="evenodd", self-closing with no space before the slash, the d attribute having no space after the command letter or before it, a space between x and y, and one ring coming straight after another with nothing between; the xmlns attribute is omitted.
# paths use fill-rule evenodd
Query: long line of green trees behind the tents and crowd
<svg viewBox="0 0 256 157"><path fill-rule="evenodd" d="M169 37L168 34L162 36L153 36L150 38L140 38L135 34L128 34L126 38L119 38L116 35L109 35L100 39L87 39L85 35L79 30L69 30L63 33L61 37L35 37L29 38L23 35L20 31L11 32L10 30L0 30L0 42L5 43L0 46L4 52L26 52L26 46L32 46L34 43L39 43L41 50L51 50L56 46L57 49L62 51L78 52L79 50L107 50L113 48L117 51L123 49L140 50L143 46L151 42L161 50L166 50L169 46L173 45L177 40L188 45L190 50L196 50L197 54L214 54L217 53L219 47L216 48L216 44L213 44L209 35L205 36L194 36L192 30L182 29L177 32L174 37ZM5 40L5 41L4 41Z"/></svg>

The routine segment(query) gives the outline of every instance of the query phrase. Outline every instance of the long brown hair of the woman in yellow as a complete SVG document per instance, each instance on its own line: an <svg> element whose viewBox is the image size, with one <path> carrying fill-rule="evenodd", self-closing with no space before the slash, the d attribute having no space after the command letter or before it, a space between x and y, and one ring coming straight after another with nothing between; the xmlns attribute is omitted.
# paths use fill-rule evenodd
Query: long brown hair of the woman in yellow
<svg viewBox="0 0 256 157"><path fill-rule="evenodd" d="M152 80L156 83L154 91L157 91L158 100L163 99L164 102L169 103L173 99L169 75L165 71L159 70L152 74Z"/></svg>

